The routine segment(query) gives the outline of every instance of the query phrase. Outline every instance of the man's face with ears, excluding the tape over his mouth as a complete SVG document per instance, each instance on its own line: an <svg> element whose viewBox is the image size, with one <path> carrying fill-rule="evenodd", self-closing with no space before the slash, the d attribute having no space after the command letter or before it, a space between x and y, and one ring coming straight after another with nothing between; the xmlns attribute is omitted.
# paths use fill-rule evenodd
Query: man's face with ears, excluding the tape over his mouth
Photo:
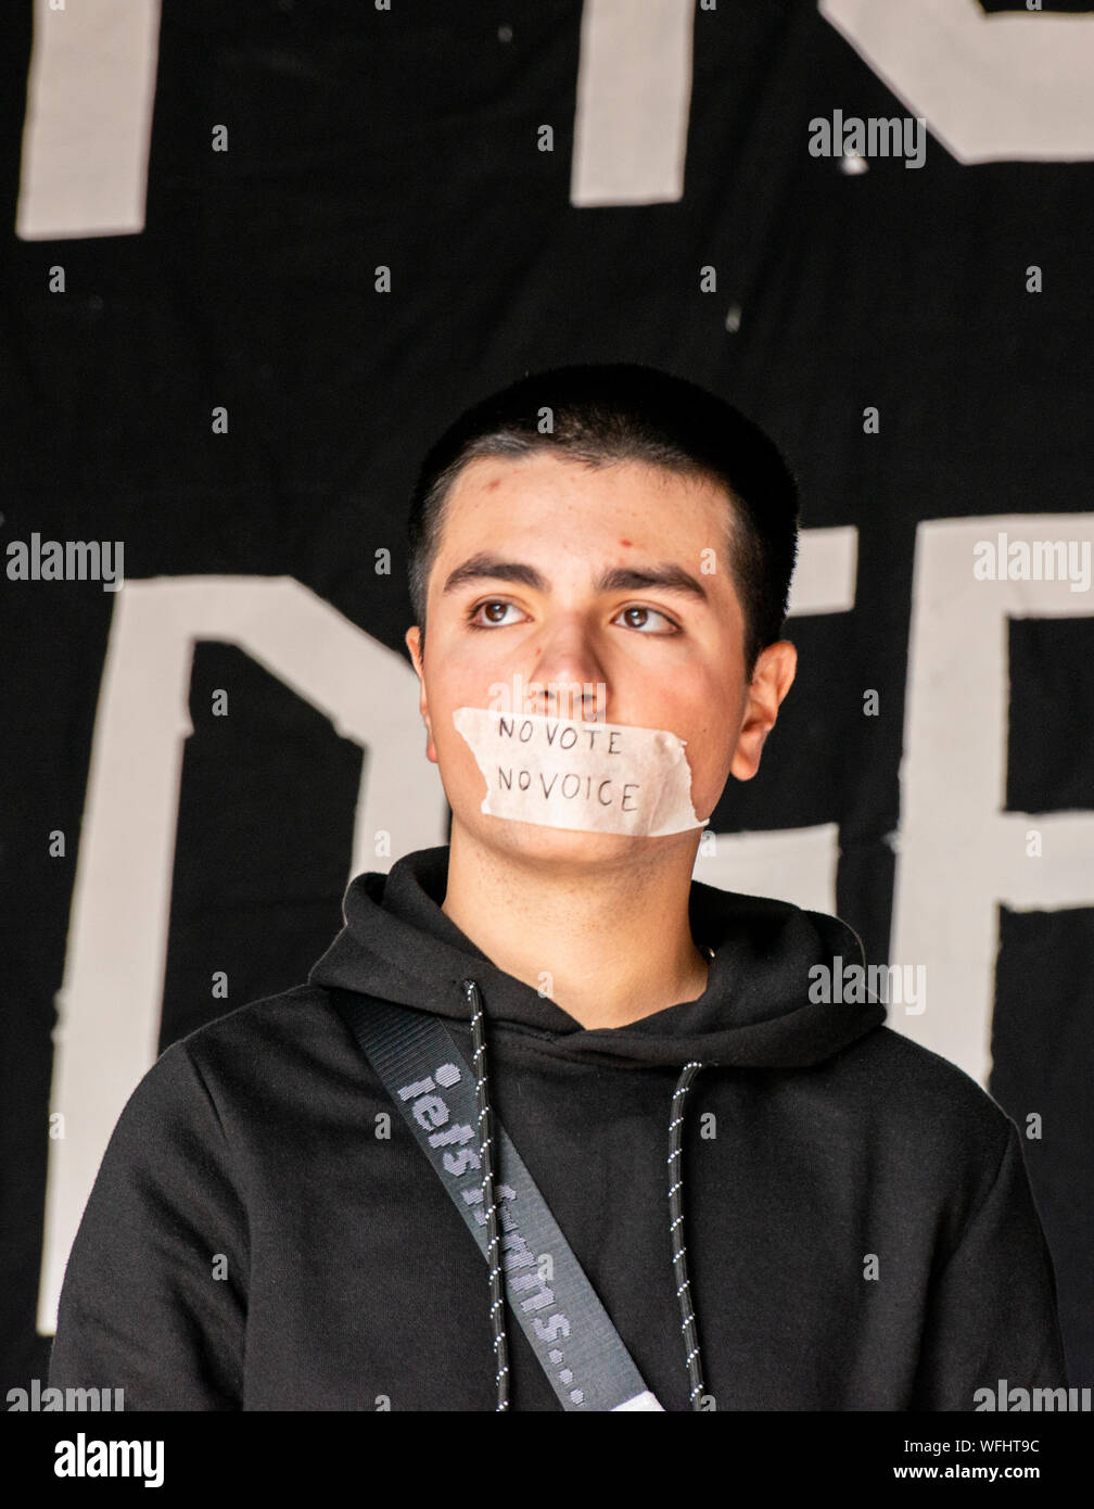
<svg viewBox="0 0 1094 1509"><path fill-rule="evenodd" d="M619 857L635 845L688 844L699 830L659 839L557 830L480 810L486 782L453 724L456 708L668 729L687 742L696 816L714 810L730 771L748 779L794 676L794 647L744 667L744 616L726 557L726 495L662 468L590 468L549 453L469 462L448 498L430 581L424 662L419 631L406 643L421 679L427 756L462 824L486 847L573 859ZM705 554L706 552L706 554ZM539 573L540 584L496 572L447 589L472 557ZM706 572L703 563L709 563ZM714 569L711 569L711 566ZM675 567L705 596L671 585L598 584L613 570ZM531 684L534 697L518 696ZM576 684L576 687L575 687ZM548 688L563 697L548 700ZM587 700L582 711L582 693ZM572 702L564 690L573 688ZM602 711L598 714L595 688Z"/></svg>

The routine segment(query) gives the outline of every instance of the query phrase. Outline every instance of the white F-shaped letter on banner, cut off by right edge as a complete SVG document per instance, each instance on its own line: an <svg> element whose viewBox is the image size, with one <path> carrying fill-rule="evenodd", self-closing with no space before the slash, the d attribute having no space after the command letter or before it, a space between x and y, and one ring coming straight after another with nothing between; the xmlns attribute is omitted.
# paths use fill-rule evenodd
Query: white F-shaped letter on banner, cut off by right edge
<svg viewBox="0 0 1094 1509"><path fill-rule="evenodd" d="M1006 515L919 525L901 764L901 827L890 958L923 964L927 1010L893 1007L889 1026L987 1088L999 904L1016 911L1094 905L1094 816L1006 812L1008 619L1094 614L1068 579L978 578L976 545L1064 540L1089 552L1094 515ZM1034 552L1034 560L1038 552ZM1089 555L1086 557L1089 558ZM1014 569L1014 566L1011 566ZM1091 709L1076 709L1080 729ZM1040 828L1044 856L1026 854ZM1035 988L1035 984L1031 984ZM1046 1002L1046 1011L1050 1003Z"/></svg>

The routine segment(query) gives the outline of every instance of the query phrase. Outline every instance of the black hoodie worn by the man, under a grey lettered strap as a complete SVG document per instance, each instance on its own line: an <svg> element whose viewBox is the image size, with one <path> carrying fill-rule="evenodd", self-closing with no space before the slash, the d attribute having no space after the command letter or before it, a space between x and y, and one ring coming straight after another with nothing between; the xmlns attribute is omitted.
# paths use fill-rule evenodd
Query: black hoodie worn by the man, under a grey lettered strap
<svg viewBox="0 0 1094 1509"><path fill-rule="evenodd" d="M693 881L697 1000L585 1029L441 910L448 848L362 874L308 984L174 1043L113 1132L77 1233L54 1387L128 1409L495 1409L487 1268L327 987L484 1013L499 1117L665 1409L688 1409L668 1123L706 1408L975 1409L1065 1387L1017 1127L961 1070L810 1000L862 963L836 917ZM816 990L812 991L816 994ZM389 1114L389 1138L377 1117ZM512 1409L561 1409L507 1322Z"/></svg>

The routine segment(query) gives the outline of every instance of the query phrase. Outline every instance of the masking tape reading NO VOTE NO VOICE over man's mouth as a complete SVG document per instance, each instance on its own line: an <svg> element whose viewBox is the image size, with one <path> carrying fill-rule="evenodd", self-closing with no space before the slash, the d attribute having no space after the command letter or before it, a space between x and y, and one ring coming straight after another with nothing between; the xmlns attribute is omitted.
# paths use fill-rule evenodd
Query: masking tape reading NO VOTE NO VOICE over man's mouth
<svg viewBox="0 0 1094 1509"><path fill-rule="evenodd" d="M664 837L706 827L685 739L667 729L456 708L487 792L481 812L548 828Z"/></svg>

